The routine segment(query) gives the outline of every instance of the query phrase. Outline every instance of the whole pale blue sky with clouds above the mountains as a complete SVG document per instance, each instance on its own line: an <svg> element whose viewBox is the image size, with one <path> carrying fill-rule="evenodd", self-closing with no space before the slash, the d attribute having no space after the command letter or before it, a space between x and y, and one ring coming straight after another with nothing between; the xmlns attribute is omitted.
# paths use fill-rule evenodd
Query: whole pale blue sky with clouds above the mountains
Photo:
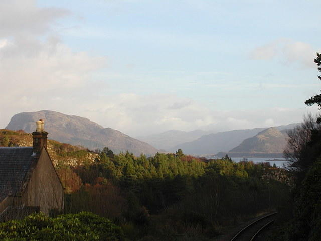
<svg viewBox="0 0 321 241"><path fill-rule="evenodd" d="M0 128L53 110L131 136L301 122L318 1L0 0Z"/></svg>

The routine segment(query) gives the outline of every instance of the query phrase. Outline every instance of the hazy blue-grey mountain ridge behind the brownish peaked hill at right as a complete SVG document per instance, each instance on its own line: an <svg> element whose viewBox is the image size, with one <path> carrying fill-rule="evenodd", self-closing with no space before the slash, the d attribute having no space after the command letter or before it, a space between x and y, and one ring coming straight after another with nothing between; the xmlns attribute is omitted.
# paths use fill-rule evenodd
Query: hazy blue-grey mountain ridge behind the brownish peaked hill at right
<svg viewBox="0 0 321 241"><path fill-rule="evenodd" d="M279 131L291 129L298 124L293 123L289 125L278 126L276 129ZM218 152L227 152L232 148L241 144L247 138L253 137L258 132L265 130L266 128L233 130L227 132L218 132L208 135L203 135L197 140L191 142L185 142L176 145L169 149L169 151L175 152L179 148L186 154L216 154Z"/></svg>

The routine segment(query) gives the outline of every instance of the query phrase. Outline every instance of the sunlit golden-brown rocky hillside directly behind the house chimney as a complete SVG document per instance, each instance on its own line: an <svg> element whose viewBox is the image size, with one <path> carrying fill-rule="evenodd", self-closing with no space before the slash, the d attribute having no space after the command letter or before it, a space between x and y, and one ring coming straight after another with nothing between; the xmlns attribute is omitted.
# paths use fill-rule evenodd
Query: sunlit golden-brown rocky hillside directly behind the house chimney
<svg viewBox="0 0 321 241"><path fill-rule="evenodd" d="M32 147L30 133L0 129L0 146ZM93 163L98 154L84 148L48 140L48 152L55 166L77 166Z"/></svg>

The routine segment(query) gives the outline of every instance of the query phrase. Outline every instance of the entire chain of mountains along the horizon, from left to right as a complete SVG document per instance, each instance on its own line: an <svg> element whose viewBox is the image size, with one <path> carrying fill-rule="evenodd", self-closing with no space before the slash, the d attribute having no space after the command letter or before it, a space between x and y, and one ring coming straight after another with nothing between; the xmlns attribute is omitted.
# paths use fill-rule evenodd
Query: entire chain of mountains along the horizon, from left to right
<svg viewBox="0 0 321 241"><path fill-rule="evenodd" d="M246 153L247 155L253 155L253 153L281 153L282 151L279 149L283 148L286 143L286 134L285 132L278 132L291 129L297 125L289 124L270 130L267 128L255 128L210 134L209 131L203 130L191 132L170 130L141 137L142 140L146 141L143 142L120 131L103 128L87 118L42 110L14 115L6 129L22 129L31 133L35 129L35 121L37 119L45 120L45 129L49 132L50 139L73 145L82 145L89 149L108 147L115 153L128 150L135 155L140 155L141 153L154 155L157 151L161 152L158 149L176 152L179 148L185 154L195 155L217 154L218 152L229 152L231 156L246 156ZM266 129L268 132L265 133ZM263 134L258 134L260 132ZM274 137L273 133L279 139ZM248 138L250 139L247 140ZM269 141L260 142L265 140L264 138L266 140L269 139Z"/></svg>

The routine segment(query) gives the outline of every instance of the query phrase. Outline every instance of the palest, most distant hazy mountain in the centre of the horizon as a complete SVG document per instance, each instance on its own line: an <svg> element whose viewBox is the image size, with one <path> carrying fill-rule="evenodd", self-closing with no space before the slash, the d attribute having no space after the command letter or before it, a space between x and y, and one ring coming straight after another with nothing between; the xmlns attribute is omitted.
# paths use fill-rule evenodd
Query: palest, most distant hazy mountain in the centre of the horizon
<svg viewBox="0 0 321 241"><path fill-rule="evenodd" d="M138 139L150 143L158 149L168 150L173 146L184 142L190 142L198 139L199 137L209 134L211 132L203 130L195 130L191 132L183 132L178 130L170 130L159 134L152 134L144 137L137 137Z"/></svg>

